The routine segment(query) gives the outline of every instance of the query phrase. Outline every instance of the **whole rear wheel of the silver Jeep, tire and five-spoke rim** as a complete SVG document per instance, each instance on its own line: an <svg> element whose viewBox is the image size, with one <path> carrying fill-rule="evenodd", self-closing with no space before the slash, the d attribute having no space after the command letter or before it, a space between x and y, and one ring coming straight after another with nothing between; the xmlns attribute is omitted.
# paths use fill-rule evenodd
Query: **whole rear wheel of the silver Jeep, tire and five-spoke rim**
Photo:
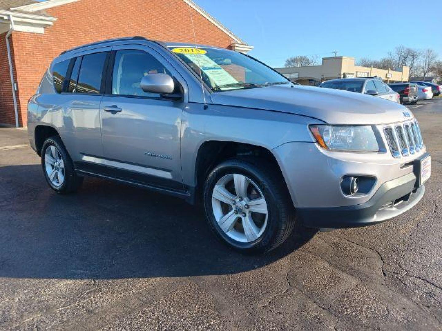
<svg viewBox="0 0 442 331"><path fill-rule="evenodd" d="M46 182L57 193L76 192L83 183L83 177L77 176L72 160L57 136L43 143L42 168Z"/></svg>

